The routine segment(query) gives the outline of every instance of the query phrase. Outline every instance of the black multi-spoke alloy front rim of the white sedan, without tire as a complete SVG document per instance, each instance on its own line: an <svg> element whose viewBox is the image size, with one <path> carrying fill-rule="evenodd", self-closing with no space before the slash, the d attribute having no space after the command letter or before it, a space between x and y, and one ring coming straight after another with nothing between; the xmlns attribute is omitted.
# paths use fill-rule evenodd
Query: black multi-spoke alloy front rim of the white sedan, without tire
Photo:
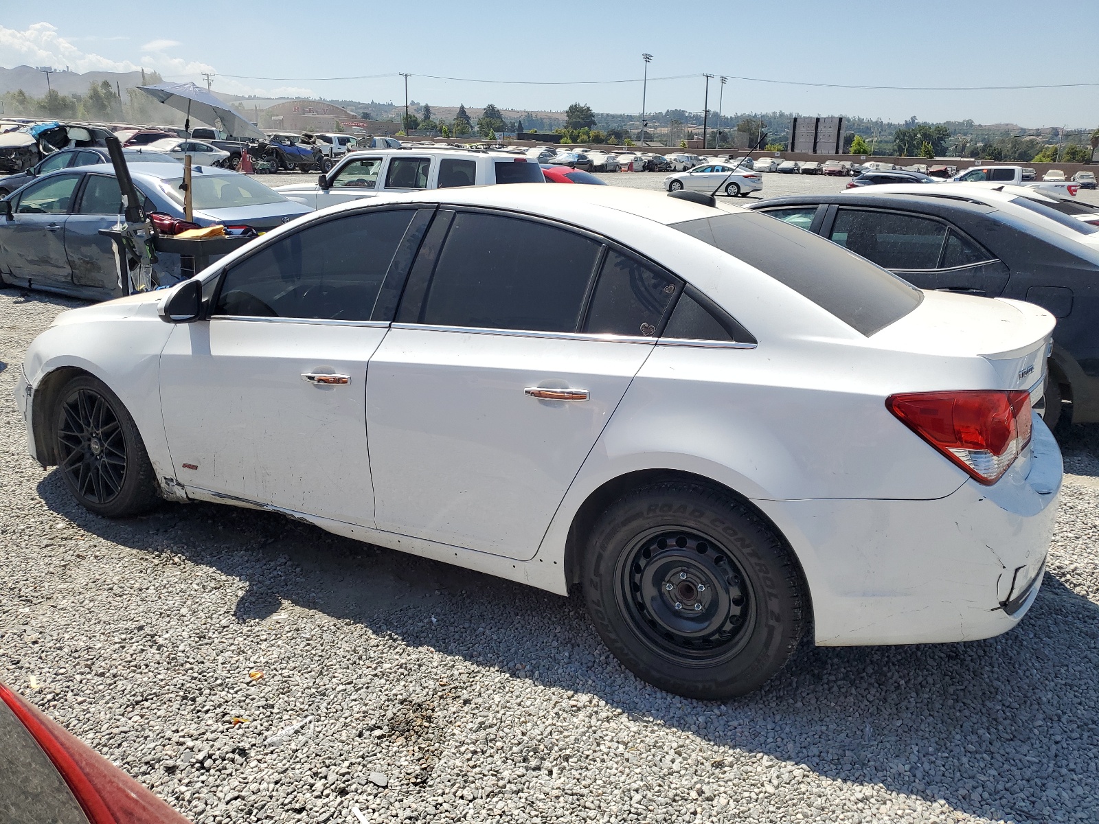
<svg viewBox="0 0 1099 824"><path fill-rule="evenodd" d="M107 504L126 478L126 444L114 410L92 389L62 400L57 463L79 498Z"/></svg>

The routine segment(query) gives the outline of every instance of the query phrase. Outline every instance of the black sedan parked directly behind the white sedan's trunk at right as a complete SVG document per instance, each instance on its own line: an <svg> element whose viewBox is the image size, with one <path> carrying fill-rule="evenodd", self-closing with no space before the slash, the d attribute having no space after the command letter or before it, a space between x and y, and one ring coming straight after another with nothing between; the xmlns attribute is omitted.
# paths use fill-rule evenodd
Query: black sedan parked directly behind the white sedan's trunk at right
<svg viewBox="0 0 1099 824"><path fill-rule="evenodd" d="M921 289L1036 303L1057 318L1045 420L1099 422L1099 227L1041 200L942 183L776 198L751 209L823 235ZM1070 401L1063 407L1062 401Z"/></svg>

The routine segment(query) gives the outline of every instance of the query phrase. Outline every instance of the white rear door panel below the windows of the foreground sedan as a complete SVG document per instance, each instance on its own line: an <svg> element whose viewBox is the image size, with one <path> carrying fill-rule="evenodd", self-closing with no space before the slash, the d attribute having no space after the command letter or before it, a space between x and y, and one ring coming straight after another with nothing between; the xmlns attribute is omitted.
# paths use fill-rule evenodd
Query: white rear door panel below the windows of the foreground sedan
<svg viewBox="0 0 1099 824"><path fill-rule="evenodd" d="M368 376L377 527L533 557L651 350L395 324ZM588 398L540 400L534 388Z"/></svg>

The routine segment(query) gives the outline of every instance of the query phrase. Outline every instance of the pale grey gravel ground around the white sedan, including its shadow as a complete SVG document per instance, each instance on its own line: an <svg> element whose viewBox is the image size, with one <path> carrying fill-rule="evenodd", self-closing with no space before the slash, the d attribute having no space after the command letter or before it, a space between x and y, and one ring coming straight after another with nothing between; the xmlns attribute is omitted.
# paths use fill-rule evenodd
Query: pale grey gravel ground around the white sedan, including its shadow
<svg viewBox="0 0 1099 824"><path fill-rule="evenodd" d="M1099 820L1099 427L1017 631L807 647L708 704L578 599L270 513L77 508L10 400L68 305L0 289L0 680L195 822Z"/></svg>

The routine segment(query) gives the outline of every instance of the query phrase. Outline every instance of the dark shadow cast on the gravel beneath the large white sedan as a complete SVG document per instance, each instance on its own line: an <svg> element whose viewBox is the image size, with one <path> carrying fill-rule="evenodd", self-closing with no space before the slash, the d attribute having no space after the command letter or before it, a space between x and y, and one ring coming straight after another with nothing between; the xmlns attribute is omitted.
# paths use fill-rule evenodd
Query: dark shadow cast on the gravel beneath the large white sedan
<svg viewBox="0 0 1099 824"><path fill-rule="evenodd" d="M166 504L110 522L79 509L56 471L38 492L103 538L171 552L246 581L237 621L263 620L289 601L822 776L942 799L992 820L1099 820L1099 608L1048 572L1031 613L1007 635L952 645L806 646L764 689L718 705L640 682L602 647L578 599L273 513ZM735 780L720 759L712 768L699 781Z"/></svg>

